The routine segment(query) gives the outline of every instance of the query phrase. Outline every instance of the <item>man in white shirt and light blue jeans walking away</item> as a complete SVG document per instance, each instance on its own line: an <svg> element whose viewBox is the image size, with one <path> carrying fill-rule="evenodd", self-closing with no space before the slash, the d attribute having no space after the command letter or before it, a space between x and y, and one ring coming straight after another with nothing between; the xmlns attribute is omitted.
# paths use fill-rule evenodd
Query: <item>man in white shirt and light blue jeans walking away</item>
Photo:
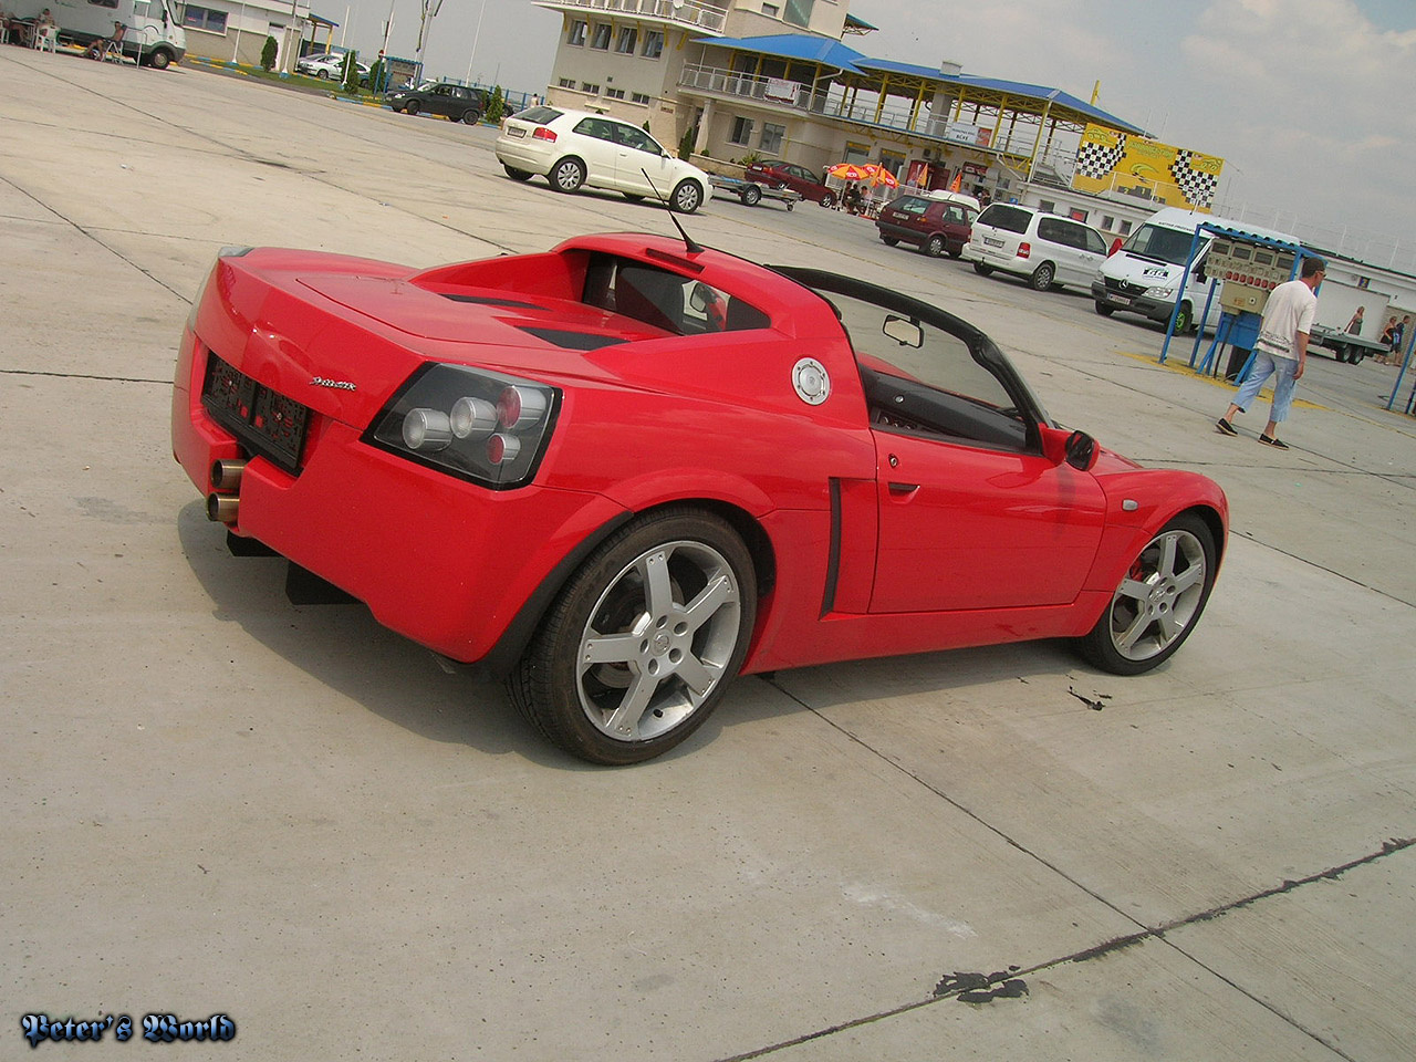
<svg viewBox="0 0 1416 1062"><path fill-rule="evenodd" d="M1235 415L1245 412L1257 398L1264 381L1274 377L1269 425L1259 436L1259 442L1264 446L1277 446L1280 450L1289 449L1289 445L1279 439L1279 425L1289 419L1294 385L1303 378L1303 370L1307 367L1308 334L1313 331L1313 317L1318 309L1315 292L1324 276L1327 276L1327 262L1321 258L1304 258L1298 279L1281 283L1269 293L1249 377L1225 415L1215 421L1221 435L1239 435L1233 426Z"/></svg>

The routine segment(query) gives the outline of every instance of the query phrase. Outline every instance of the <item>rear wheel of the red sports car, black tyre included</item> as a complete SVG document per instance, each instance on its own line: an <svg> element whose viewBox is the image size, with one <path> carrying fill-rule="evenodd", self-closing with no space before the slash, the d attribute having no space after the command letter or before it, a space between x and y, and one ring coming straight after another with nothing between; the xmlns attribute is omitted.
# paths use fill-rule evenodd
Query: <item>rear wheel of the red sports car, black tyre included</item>
<svg viewBox="0 0 1416 1062"><path fill-rule="evenodd" d="M658 756L698 729L742 668L752 556L722 518L649 513L571 576L507 680L549 742L592 763Z"/></svg>

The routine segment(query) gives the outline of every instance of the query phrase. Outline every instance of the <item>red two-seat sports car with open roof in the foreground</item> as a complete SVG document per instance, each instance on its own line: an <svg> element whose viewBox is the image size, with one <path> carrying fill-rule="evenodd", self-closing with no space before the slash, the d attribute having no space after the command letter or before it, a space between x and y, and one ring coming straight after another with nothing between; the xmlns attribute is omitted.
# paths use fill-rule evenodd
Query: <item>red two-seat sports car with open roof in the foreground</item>
<svg viewBox="0 0 1416 1062"><path fill-rule="evenodd" d="M1228 523L944 310L629 234L425 270L228 249L173 450L234 552L491 666L599 763L673 748L739 673L1042 637L1146 671Z"/></svg>

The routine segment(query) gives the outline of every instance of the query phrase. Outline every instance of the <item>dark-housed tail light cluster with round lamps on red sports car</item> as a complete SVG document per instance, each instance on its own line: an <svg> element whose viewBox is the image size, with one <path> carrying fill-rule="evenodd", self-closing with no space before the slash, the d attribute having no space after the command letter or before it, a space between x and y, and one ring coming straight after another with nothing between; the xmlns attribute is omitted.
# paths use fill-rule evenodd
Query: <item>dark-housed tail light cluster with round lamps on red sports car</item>
<svg viewBox="0 0 1416 1062"><path fill-rule="evenodd" d="M413 375L365 433L365 442L490 487L535 474L551 438L559 391L464 365Z"/></svg>

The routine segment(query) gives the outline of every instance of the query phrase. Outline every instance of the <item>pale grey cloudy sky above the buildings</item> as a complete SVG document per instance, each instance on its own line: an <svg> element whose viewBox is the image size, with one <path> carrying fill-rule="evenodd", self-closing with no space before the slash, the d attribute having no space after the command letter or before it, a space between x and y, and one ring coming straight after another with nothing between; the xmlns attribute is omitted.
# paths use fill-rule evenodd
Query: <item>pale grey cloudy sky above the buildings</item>
<svg viewBox="0 0 1416 1062"><path fill-rule="evenodd" d="M411 57L419 0L314 0L364 52L391 10L389 52ZM881 27L847 38L877 58L952 59L1082 99L1100 81L1099 106L1225 159L1226 214L1416 269L1416 0L851 0L851 13ZM530 0L443 0L428 71L541 91L559 25Z"/></svg>

